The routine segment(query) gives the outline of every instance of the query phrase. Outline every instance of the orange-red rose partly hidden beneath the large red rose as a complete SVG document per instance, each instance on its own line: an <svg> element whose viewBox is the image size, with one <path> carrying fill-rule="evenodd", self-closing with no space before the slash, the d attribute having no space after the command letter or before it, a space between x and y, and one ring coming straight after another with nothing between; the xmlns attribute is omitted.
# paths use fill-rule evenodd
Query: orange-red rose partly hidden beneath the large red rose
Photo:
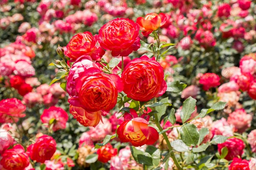
<svg viewBox="0 0 256 170"><path fill-rule="evenodd" d="M81 125L84 126L95 127L99 124L99 121L102 120L101 111L87 112L83 108L70 105L70 113Z"/></svg>

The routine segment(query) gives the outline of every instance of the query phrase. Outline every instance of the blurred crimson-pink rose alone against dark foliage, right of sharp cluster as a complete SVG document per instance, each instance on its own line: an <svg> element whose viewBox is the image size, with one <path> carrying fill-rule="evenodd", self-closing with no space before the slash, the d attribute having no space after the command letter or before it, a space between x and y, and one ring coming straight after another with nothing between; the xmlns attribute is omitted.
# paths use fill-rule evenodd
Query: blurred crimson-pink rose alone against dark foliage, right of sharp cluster
<svg viewBox="0 0 256 170"><path fill-rule="evenodd" d="M205 73L200 77L199 83L203 85L203 89L208 91L212 87L220 85L220 77L215 73Z"/></svg>

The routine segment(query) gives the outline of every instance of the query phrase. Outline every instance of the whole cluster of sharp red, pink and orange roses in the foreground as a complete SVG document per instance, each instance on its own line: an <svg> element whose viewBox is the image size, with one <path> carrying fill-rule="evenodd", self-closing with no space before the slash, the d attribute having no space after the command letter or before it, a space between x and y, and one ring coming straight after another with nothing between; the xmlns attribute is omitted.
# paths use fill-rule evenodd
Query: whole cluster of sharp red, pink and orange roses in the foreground
<svg viewBox="0 0 256 170"><path fill-rule="evenodd" d="M122 71L121 78L117 74L104 73L97 62L105 53L103 49L112 51L114 57L126 57L137 51L140 48L140 27L143 31L152 32L162 23L157 14L147 16L138 18L139 25L129 19L117 18L102 26L98 36L90 32L79 33L68 43L65 55L71 58L69 62L74 62L67 77L68 102L70 113L82 125L98 125L102 115L115 107L119 92L123 91L127 97L140 102L165 93L167 85L163 79L163 68L154 57L142 56L131 60ZM151 28L151 22L158 27ZM97 40L101 47L96 46ZM125 121L117 130L119 138L134 146L153 144L158 133L153 127L148 127L148 120L149 116L138 117L134 110L125 113Z"/></svg>

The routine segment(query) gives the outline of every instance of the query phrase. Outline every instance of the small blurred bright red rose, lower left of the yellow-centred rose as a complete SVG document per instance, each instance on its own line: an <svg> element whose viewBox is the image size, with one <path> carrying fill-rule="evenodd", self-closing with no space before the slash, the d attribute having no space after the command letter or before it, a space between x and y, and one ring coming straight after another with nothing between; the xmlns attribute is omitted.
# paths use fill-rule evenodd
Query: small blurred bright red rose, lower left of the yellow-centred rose
<svg viewBox="0 0 256 170"><path fill-rule="evenodd" d="M117 154L117 149L113 148L111 144L106 144L97 150L97 154L99 155L98 160L106 163L108 162L111 157Z"/></svg>

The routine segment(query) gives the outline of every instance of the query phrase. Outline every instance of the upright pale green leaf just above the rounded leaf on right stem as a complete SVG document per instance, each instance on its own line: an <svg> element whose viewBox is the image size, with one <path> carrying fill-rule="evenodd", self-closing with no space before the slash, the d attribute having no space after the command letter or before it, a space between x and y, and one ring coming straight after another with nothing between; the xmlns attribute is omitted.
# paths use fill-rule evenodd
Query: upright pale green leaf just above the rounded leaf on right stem
<svg viewBox="0 0 256 170"><path fill-rule="evenodd" d="M185 123L186 120L189 119L191 114L195 111L195 102L196 99L192 98L191 96L183 102L180 112L182 123Z"/></svg>

